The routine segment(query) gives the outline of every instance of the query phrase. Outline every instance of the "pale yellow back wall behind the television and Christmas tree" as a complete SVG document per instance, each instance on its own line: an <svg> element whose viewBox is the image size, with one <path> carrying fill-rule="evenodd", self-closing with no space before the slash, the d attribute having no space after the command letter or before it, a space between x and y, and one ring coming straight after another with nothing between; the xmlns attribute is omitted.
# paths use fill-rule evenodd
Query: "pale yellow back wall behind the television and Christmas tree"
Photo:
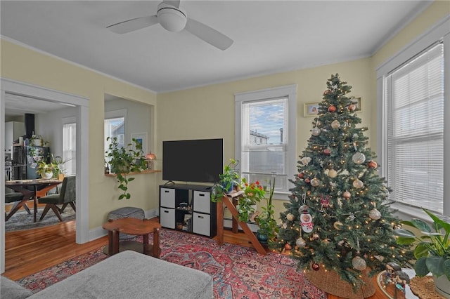
<svg viewBox="0 0 450 299"><path fill-rule="evenodd" d="M307 139L312 128L311 121L314 119L303 116L304 103L321 101L322 93L326 90L326 80L335 73L339 73L341 79L353 86L352 93L349 95L362 97L362 112L359 116L364 120L363 125L366 126L366 122L371 120L373 114L364 109L364 105L366 101L375 100L371 97L371 68L368 58L159 94L158 152L162 152L163 140L224 138L225 161L228 161L235 157L234 93L297 84L298 156L307 146ZM368 133L375 135L375 132L368 131ZM284 199L288 199L287 195ZM279 212L284 211L283 201L274 201L274 206L276 206L277 216Z"/></svg>

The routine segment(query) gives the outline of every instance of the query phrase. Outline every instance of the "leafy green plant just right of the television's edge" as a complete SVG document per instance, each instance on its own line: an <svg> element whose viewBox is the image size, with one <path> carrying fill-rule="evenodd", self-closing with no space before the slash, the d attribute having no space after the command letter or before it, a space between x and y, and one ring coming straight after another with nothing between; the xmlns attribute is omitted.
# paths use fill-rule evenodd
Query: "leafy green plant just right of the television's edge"
<svg viewBox="0 0 450 299"><path fill-rule="evenodd" d="M219 174L219 182L212 187L211 200L213 202L220 201L222 197L226 197L234 190L240 190L240 174L236 167L239 160L230 159L230 163L224 166L224 173Z"/></svg>

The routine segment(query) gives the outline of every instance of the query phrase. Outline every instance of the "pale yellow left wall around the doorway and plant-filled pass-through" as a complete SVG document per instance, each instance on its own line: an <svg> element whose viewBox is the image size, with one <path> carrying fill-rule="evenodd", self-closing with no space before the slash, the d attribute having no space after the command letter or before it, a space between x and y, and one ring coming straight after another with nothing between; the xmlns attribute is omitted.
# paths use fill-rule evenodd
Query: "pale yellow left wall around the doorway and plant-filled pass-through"
<svg viewBox="0 0 450 299"><path fill-rule="evenodd" d="M89 99L89 227L91 229L101 227L108 212L115 208L139 206L149 210L158 206L158 197L155 197L156 180L152 174L136 175L136 180L130 184L131 199L128 201L117 200L119 193L115 179L103 175L104 93L153 106L156 104L155 93L5 40L1 40L0 74L2 78Z"/></svg>

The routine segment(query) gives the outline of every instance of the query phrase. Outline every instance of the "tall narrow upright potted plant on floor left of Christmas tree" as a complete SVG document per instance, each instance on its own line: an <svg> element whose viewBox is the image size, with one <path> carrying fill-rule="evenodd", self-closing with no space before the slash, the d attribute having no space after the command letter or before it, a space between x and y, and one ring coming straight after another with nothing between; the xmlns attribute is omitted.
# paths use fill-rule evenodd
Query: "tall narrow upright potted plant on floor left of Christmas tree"
<svg viewBox="0 0 450 299"><path fill-rule="evenodd" d="M274 239L278 233L278 225L276 225L276 220L274 218L274 205L272 204L274 192L275 178L273 181L269 180L269 198L266 198L266 205L261 207L262 213L255 217L255 221L259 227L257 237L262 243Z"/></svg>

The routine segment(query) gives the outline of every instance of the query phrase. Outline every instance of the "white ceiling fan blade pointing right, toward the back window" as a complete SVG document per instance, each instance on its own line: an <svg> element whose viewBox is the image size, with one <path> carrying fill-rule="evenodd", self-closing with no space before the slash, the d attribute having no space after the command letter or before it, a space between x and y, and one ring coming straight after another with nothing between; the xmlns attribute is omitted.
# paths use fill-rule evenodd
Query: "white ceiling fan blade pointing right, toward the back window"
<svg viewBox="0 0 450 299"><path fill-rule="evenodd" d="M203 39L203 41L206 41L208 44L211 44L221 50L226 50L233 44L233 39L230 39L228 36L221 34L216 29L212 29L211 27L196 20L188 18L184 29L191 32L199 39Z"/></svg>

